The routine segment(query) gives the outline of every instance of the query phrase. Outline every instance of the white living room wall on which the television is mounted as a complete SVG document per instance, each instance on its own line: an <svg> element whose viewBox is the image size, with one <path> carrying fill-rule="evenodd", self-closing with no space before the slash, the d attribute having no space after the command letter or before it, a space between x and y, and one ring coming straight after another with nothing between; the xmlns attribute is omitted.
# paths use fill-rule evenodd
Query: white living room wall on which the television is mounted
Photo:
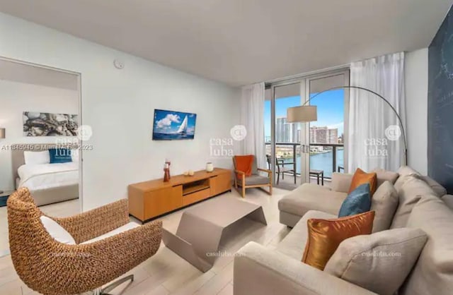
<svg viewBox="0 0 453 295"><path fill-rule="evenodd" d="M83 153L84 210L125 198L129 183L161 177L166 157L172 174L203 169L210 139L229 138L239 123L235 88L3 13L0 56L81 73L82 124L93 128L93 150ZM197 113L195 140L152 141L154 108ZM231 167L230 157L213 162Z"/></svg>

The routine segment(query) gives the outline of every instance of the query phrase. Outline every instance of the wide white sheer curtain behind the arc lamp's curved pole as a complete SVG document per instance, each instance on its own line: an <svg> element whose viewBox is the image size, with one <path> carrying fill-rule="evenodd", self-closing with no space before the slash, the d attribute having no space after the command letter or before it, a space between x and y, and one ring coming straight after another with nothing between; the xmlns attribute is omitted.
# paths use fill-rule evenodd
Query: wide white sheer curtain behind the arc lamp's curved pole
<svg viewBox="0 0 453 295"><path fill-rule="evenodd" d="M350 85L373 90L396 109L406 130L404 53L351 64ZM398 126L398 127L397 127ZM383 168L396 171L403 163L403 136L398 117L386 102L365 90L350 91L348 171Z"/></svg>

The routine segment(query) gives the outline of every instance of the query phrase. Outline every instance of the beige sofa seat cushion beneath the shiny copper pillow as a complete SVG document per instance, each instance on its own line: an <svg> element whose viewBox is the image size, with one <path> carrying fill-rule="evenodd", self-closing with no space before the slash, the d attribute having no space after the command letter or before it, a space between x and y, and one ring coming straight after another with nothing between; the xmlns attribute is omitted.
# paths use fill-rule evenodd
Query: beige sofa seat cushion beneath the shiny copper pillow
<svg viewBox="0 0 453 295"><path fill-rule="evenodd" d="M278 244L277 251L299 261L302 260L306 239L308 239L308 227L306 222L311 218L332 219L336 218L336 215L315 210L306 212L294 228L289 231L289 234L285 236L285 239Z"/></svg>

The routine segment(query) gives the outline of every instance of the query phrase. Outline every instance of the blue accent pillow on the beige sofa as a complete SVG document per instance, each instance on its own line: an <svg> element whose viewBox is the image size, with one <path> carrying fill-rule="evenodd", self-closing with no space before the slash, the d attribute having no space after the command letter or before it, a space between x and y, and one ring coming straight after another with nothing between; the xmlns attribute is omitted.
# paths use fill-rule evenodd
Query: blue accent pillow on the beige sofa
<svg viewBox="0 0 453 295"><path fill-rule="evenodd" d="M369 183L363 183L357 186L354 191L351 191L348 197L341 204L338 217L357 215L368 212L371 208L371 193Z"/></svg>

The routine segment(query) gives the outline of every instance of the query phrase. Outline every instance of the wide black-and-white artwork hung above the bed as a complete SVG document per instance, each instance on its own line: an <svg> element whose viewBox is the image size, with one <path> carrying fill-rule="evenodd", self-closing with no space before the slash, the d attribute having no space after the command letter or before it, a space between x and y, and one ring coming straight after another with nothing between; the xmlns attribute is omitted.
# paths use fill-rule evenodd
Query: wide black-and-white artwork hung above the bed
<svg viewBox="0 0 453 295"><path fill-rule="evenodd" d="M77 136L79 116L23 112L23 136Z"/></svg>

